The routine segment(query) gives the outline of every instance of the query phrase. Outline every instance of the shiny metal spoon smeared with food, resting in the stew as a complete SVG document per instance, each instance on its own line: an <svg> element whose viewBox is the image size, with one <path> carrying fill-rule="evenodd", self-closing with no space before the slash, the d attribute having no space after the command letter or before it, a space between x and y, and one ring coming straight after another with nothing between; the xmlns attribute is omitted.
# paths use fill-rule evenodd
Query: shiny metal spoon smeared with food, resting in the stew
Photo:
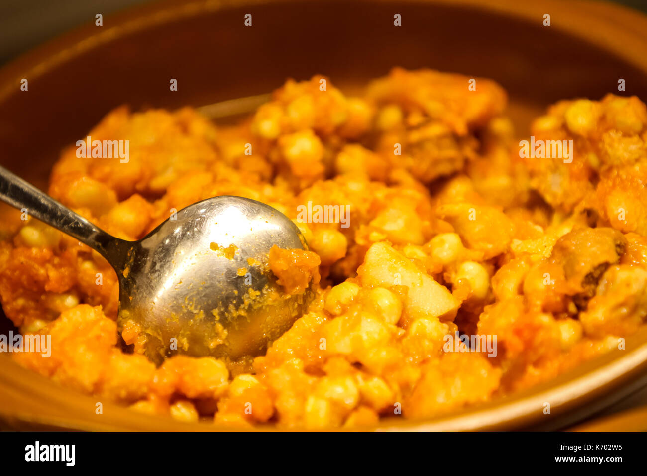
<svg viewBox="0 0 647 476"><path fill-rule="evenodd" d="M155 363L181 353L261 354L300 317L312 292L283 295L269 270L272 245L306 249L278 210L218 196L177 212L136 242L115 238L0 167L0 199L98 251L119 280L118 324L146 336Z"/></svg>

